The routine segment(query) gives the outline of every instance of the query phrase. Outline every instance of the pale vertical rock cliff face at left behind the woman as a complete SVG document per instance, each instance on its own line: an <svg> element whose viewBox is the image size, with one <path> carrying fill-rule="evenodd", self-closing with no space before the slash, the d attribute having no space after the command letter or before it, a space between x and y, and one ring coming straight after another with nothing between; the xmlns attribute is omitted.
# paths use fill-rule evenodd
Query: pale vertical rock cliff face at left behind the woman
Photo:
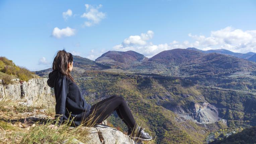
<svg viewBox="0 0 256 144"><path fill-rule="evenodd" d="M28 82L12 79L13 84L3 85L0 82L0 98L36 100L39 97L48 98L51 88L47 85L47 78L32 78Z"/></svg>

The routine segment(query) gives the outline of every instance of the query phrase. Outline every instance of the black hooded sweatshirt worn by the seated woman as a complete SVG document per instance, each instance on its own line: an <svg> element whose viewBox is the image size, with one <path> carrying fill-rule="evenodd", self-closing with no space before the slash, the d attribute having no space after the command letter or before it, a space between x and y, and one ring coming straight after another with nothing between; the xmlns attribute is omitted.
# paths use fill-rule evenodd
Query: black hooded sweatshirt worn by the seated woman
<svg viewBox="0 0 256 144"><path fill-rule="evenodd" d="M47 84L54 87L55 118L60 117L59 125L68 120L71 113L70 120L75 117L74 125L79 126L82 119L88 116L91 105L85 101L78 86L58 70L49 73Z"/></svg>

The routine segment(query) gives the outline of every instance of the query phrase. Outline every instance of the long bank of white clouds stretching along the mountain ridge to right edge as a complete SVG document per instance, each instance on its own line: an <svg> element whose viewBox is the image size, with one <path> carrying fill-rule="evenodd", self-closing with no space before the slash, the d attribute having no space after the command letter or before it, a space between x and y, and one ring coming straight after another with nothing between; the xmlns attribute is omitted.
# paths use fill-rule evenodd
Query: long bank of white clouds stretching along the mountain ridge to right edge
<svg viewBox="0 0 256 144"><path fill-rule="evenodd" d="M171 49L186 49L195 47L201 50L226 49L233 52L248 53L256 52L256 30L235 29L231 26L211 31L210 36L188 34L192 42L184 40L178 42L173 40L171 43L153 44L148 42L153 38L154 32L149 30L140 35L131 35L124 41L113 47L116 51L135 51L150 58L159 52Z"/></svg>

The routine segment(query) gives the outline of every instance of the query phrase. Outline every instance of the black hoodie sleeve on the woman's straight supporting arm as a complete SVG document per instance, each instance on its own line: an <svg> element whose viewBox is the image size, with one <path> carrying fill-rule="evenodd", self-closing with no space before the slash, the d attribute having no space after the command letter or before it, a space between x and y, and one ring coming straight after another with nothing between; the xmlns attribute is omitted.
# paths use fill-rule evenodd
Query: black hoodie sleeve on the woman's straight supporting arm
<svg viewBox="0 0 256 144"><path fill-rule="evenodd" d="M68 81L66 77L63 75L56 81L56 105L55 105L55 118L60 117L59 124L62 123L63 117L65 114L66 107L66 98L68 91Z"/></svg>

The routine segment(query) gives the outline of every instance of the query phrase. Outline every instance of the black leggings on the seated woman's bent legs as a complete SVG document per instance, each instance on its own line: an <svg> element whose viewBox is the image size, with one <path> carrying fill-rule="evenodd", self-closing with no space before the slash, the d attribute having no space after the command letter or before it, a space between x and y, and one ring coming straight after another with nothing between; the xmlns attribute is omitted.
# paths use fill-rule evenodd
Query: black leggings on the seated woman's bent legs
<svg viewBox="0 0 256 144"><path fill-rule="evenodd" d="M87 118L92 118L92 123L97 125L107 119L114 111L128 128L135 126L135 120L125 99L121 96L111 96L91 106ZM92 115L93 114L93 115Z"/></svg>

